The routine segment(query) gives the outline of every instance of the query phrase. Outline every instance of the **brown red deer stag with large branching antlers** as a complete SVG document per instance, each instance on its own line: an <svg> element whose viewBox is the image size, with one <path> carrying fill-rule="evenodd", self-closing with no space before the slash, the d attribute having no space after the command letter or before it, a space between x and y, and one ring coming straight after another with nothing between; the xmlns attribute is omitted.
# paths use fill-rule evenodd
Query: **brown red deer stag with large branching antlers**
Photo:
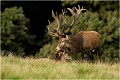
<svg viewBox="0 0 120 80"><path fill-rule="evenodd" d="M71 54L71 53L82 53L87 54L88 60L90 59L90 53L94 52L97 55L97 58L100 58L100 47L101 47L101 40L100 34L96 31L80 31L76 34L69 34L72 26L76 22L77 18L79 17L80 13L86 9L80 9L78 5L78 9L75 7L76 12L72 9L67 8L68 11L72 14L72 22L68 24L65 21L65 14L66 11L62 10L63 15L58 16L55 15L52 10L52 17L57 21L57 28L49 28L48 33L51 36L59 37L58 45L56 47L56 60L60 60L62 55L64 54ZM64 23L64 25L61 25ZM50 21L49 21L50 24ZM50 29L54 30L51 31Z"/></svg>

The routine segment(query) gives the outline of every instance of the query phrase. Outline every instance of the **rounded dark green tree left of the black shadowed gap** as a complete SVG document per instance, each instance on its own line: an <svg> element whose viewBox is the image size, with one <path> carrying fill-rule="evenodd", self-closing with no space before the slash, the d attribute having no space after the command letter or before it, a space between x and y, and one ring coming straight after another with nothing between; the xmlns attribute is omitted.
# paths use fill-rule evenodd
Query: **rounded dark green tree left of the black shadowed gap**
<svg viewBox="0 0 120 80"><path fill-rule="evenodd" d="M35 36L29 32L29 19L25 17L22 7L6 8L1 19L1 49L24 55Z"/></svg>

